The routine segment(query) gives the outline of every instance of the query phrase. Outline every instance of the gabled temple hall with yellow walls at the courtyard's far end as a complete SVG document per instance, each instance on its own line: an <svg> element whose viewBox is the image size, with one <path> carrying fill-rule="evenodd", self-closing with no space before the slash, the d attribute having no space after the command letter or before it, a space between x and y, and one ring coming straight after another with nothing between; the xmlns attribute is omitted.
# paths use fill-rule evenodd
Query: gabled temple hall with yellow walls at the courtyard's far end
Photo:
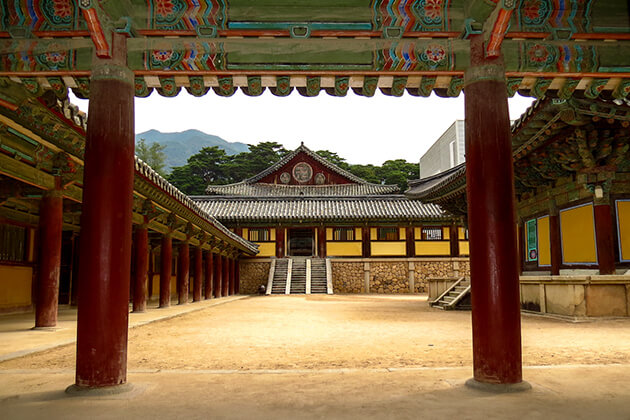
<svg viewBox="0 0 630 420"><path fill-rule="evenodd" d="M208 195L191 198L258 245L256 257L241 262L249 267L241 274L250 292L261 284L274 289L268 267L322 258L329 292L424 292L429 277L464 275L468 241L461 219L398 190L366 182L302 144L249 179L209 185Z"/></svg>

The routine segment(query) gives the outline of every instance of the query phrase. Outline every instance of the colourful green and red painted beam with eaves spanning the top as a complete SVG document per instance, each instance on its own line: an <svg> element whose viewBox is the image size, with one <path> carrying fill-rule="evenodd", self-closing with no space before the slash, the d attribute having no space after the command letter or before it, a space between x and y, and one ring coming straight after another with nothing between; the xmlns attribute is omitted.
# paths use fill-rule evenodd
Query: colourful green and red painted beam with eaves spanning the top
<svg viewBox="0 0 630 420"><path fill-rule="evenodd" d="M0 6L0 75L37 93L89 95L93 50L125 33L135 94L182 89L251 96L458 96L471 34L503 53L507 89L623 98L630 92L624 1L18 0Z"/></svg>

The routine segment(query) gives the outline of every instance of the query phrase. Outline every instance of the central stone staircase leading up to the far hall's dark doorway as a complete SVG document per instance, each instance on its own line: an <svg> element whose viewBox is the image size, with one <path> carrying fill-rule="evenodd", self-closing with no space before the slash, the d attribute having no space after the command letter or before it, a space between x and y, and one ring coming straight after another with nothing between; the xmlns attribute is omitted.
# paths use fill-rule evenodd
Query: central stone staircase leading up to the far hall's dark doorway
<svg viewBox="0 0 630 420"><path fill-rule="evenodd" d="M272 260L267 294L332 294L330 263L325 258L291 257Z"/></svg>

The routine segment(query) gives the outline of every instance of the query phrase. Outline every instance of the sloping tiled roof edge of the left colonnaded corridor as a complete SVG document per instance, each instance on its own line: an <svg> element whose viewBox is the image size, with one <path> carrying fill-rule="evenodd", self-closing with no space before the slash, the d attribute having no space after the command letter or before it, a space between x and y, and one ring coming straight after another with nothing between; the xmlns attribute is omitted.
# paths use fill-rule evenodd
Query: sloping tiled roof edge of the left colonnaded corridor
<svg viewBox="0 0 630 420"><path fill-rule="evenodd" d="M252 254L258 253L258 246L256 244L253 244L243 239L239 235L236 235L235 233L230 231L227 227L223 226L215 217L211 215L211 213L208 213L195 201L191 200L186 194L178 190L173 184L160 176L160 174L153 170L153 168L151 168L146 162L138 158L138 156L134 156L134 159L134 168L137 174L151 181L151 183L155 185L155 187L161 189L171 197L175 198L177 201L188 207L206 222L213 225L216 229L221 231L231 240L233 240L234 242L238 242L239 244L241 244L241 246L244 246Z"/></svg>

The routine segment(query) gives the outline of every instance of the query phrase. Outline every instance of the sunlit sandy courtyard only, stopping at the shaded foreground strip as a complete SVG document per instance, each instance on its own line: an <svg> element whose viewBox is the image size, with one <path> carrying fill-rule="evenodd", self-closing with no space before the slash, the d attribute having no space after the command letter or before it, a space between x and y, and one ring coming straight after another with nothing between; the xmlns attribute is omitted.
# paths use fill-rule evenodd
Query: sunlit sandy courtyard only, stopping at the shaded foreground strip
<svg viewBox="0 0 630 420"><path fill-rule="evenodd" d="M525 366L630 364L630 319L522 319ZM0 363L73 369L75 346ZM252 297L129 332L129 369L265 370L472 366L470 312L417 296Z"/></svg>

